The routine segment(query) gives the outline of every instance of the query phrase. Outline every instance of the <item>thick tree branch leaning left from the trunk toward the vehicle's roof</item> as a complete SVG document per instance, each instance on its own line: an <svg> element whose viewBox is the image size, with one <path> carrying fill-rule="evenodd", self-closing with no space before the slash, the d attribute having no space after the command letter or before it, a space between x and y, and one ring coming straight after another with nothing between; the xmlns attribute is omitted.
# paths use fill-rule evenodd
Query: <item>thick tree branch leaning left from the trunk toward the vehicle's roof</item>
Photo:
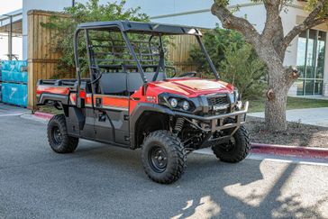
<svg viewBox="0 0 328 219"><path fill-rule="evenodd" d="M260 34L249 21L234 16L225 5L217 2L212 5L211 12L220 19L224 28L241 32L246 41L253 45L259 44Z"/></svg>

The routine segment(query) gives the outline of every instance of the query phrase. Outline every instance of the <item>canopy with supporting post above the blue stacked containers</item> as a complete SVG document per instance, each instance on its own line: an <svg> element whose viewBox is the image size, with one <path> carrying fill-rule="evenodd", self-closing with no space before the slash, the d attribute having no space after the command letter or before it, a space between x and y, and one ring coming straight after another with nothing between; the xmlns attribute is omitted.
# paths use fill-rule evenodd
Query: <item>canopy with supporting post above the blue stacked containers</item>
<svg viewBox="0 0 328 219"><path fill-rule="evenodd" d="M22 37L23 10L0 16L0 37L8 37L8 59L13 59L13 37Z"/></svg>

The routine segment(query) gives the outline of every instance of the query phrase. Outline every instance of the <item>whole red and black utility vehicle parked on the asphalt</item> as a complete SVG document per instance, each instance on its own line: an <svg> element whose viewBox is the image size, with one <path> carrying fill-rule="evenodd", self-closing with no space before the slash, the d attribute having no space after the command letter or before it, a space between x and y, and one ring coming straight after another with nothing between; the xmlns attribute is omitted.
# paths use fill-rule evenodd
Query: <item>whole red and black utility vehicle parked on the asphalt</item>
<svg viewBox="0 0 328 219"><path fill-rule="evenodd" d="M214 79L169 65L169 35L195 36ZM53 151L73 152L80 138L141 148L145 172L164 184L181 177L191 151L211 147L225 162L248 155L249 135L242 125L248 103L242 105L237 88L220 80L196 28L82 23L74 46L77 79L40 80L37 86L38 105L62 110L48 124ZM81 50L87 57L79 56Z"/></svg>

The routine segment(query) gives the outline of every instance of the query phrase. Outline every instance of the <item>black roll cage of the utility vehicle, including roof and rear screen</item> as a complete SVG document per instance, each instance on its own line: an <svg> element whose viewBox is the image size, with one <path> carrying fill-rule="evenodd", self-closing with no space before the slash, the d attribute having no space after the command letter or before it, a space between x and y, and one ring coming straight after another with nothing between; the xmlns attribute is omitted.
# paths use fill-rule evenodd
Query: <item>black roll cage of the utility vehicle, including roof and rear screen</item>
<svg viewBox="0 0 328 219"><path fill-rule="evenodd" d="M144 68L154 68L155 70L155 75L153 80L155 80L158 77L159 74L159 69L165 69L169 68L165 66L165 59L164 59L164 48L163 48L163 43L162 43L162 36L164 35L194 35L196 37L196 41L198 42L201 50L205 54L205 58L207 59L210 68L212 69L214 76L216 79L219 79L219 75L214 68L214 64L212 60L210 59L207 51L205 50L205 46L203 42L201 41L201 36L202 33L194 28L194 27L188 27L188 26L180 26L180 25L170 25L170 24L162 24L162 23L140 23L140 22L129 22L129 21L115 21L115 22L96 22L96 23L81 23L77 26L77 30L75 32L74 36L74 53L75 53L75 63L76 63L76 73L77 73L77 104L79 103L78 95L79 95L79 90L81 86L81 68L80 68L80 61L79 61L79 54L78 54L78 36L80 32L84 32L85 34L85 40L86 40L86 45L87 45L87 59L88 59L88 67L89 67L89 72L90 72L90 83L92 84L92 90L93 93L95 93L95 87L93 84L99 80L99 78L102 77L102 73L99 72L99 65L96 64L96 59L95 55L96 52L92 50L95 46L91 44L90 39L90 32L92 31L102 31L102 32L118 32L121 33L122 38L123 38L123 43L124 47L130 52L130 55L132 56L132 60L135 62L135 65L129 66L129 65L106 65L105 68L123 68L123 70L126 70L128 68L135 68L136 70L140 73L141 79L143 81L143 87L146 89L146 84L148 82L147 78L145 77L145 71ZM141 65L141 59L138 59L135 48L132 46L132 41L130 41L128 33L139 33L142 35L150 35L149 39L149 47L150 47L150 59L153 60L153 55L155 54L154 52L151 51L151 45L150 41L152 40L153 36L158 36L159 37L159 48L158 48L158 57L159 57L159 62L157 65ZM104 40L104 39L98 39L98 40ZM108 39L108 41L111 41ZM141 41L141 43L144 43L145 41ZM113 49L112 49L113 50ZM103 52L104 53L104 52ZM112 51L112 55L114 52ZM111 52L106 53L107 55L110 55ZM121 54L123 55L123 53ZM145 55L144 53L141 53L141 56ZM116 61L120 61L117 60ZM79 104L78 104L79 105Z"/></svg>

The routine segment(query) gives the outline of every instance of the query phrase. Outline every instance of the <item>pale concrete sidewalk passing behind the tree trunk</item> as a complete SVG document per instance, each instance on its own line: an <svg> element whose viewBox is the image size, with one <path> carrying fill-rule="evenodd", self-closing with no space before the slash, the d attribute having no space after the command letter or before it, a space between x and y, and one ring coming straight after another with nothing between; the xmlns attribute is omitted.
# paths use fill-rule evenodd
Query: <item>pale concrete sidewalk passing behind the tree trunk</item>
<svg viewBox="0 0 328 219"><path fill-rule="evenodd" d="M264 118L264 113L248 114ZM328 127L328 107L287 110L287 121Z"/></svg>

